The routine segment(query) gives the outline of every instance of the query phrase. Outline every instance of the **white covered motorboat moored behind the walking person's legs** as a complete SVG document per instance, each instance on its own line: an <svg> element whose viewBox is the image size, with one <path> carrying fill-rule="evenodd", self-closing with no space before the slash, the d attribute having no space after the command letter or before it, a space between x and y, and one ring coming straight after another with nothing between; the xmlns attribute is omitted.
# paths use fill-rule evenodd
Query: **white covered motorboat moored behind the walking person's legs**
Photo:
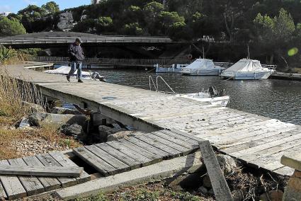
<svg viewBox="0 0 301 201"><path fill-rule="evenodd" d="M67 75L69 74L71 67L67 66L62 66L57 69L53 70L47 70L45 73L47 74L59 74L59 75ZM77 76L77 70L74 72L73 76ZM106 81L106 79L98 74L98 72L87 72L87 71L82 71L81 76L83 79L98 79L99 81Z"/></svg>

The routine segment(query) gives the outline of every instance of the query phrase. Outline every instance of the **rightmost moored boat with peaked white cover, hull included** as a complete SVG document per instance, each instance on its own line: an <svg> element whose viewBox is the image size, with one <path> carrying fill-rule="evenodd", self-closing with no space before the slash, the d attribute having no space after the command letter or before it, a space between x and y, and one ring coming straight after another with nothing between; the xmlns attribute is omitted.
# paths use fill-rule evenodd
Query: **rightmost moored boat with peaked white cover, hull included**
<svg viewBox="0 0 301 201"><path fill-rule="evenodd" d="M273 74L273 69L264 68L258 60L240 59L239 62L222 71L225 79L268 79Z"/></svg>

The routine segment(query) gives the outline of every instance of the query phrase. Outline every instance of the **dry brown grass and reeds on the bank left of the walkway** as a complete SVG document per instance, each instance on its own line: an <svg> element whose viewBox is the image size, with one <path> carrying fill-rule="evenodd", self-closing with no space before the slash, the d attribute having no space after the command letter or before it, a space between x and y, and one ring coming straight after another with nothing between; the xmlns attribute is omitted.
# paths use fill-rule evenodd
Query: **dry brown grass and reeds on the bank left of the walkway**
<svg viewBox="0 0 301 201"><path fill-rule="evenodd" d="M20 55L17 54L4 60L1 60L0 57L0 159L12 159L44 153L51 149L65 150L81 146L79 142L59 133L51 125L30 130L14 127L16 122L30 113L30 106L23 104L23 101L42 105L42 108L46 108L45 98L42 97L38 88L27 82L3 76L7 75L7 72L1 69L1 63L7 64L18 61L20 62ZM24 146L20 147L20 145ZM40 149L41 145L42 149ZM35 147L39 149L34 149Z"/></svg>

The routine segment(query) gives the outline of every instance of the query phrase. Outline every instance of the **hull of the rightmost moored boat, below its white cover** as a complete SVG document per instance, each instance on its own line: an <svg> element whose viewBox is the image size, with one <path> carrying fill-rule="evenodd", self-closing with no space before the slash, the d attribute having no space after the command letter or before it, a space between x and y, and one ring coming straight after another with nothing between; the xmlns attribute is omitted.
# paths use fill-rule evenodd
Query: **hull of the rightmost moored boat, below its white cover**
<svg viewBox="0 0 301 201"><path fill-rule="evenodd" d="M220 76L225 79L235 80L256 80L256 79L268 79L271 76L272 71L262 72L223 72Z"/></svg>

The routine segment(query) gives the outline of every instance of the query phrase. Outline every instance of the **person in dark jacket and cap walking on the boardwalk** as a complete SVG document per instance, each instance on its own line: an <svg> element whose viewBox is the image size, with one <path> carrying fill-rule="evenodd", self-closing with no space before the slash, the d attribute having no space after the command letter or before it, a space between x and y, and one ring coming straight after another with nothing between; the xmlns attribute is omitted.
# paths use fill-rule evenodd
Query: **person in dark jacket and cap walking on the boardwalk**
<svg viewBox="0 0 301 201"><path fill-rule="evenodd" d="M70 81L70 76L72 76L77 69L77 81L83 82L81 80L81 66L84 60L84 51L81 47L81 43L81 38L76 38L75 42L69 45L68 54L69 61L71 62L71 69L67 75L67 81Z"/></svg>

